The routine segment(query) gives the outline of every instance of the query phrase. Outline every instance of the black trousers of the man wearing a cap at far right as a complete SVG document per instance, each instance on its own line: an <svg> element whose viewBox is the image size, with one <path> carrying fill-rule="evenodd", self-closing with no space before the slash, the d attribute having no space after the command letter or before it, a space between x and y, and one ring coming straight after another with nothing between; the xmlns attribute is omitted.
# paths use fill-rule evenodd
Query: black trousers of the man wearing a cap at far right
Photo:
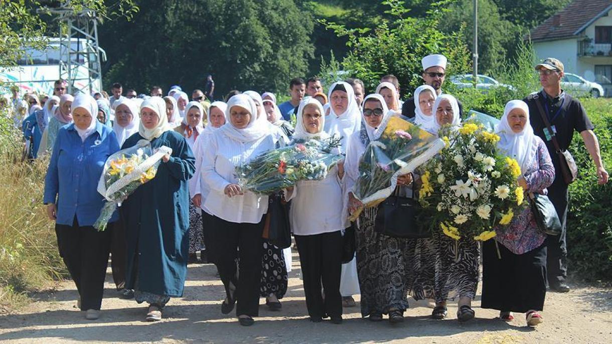
<svg viewBox="0 0 612 344"><path fill-rule="evenodd" d="M548 188L548 198L554 205L554 209L561 220L561 234L558 236L548 236L546 239L548 284L558 285L565 281L567 277L567 243L565 233L567 232L567 185L561 180L557 180Z"/></svg>

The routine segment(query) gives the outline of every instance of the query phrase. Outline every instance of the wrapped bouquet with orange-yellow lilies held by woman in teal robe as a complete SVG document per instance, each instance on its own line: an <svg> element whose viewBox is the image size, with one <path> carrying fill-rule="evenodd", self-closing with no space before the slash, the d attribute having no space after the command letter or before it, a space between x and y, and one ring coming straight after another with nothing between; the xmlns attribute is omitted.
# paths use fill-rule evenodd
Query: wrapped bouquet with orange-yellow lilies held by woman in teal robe
<svg viewBox="0 0 612 344"><path fill-rule="evenodd" d="M171 153L172 149L166 146L153 153L151 143L140 140L136 146L122 149L108 157L98 182L98 192L106 198L106 203L95 220L94 228L105 230L115 209L140 185L155 178L163 155Z"/></svg>

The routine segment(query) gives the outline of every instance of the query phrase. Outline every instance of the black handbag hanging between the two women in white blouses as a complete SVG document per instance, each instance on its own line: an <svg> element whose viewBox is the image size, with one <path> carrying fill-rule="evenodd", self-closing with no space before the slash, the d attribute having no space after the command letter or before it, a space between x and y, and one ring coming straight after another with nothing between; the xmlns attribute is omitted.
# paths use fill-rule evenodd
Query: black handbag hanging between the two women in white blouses
<svg viewBox="0 0 612 344"><path fill-rule="evenodd" d="M282 194L268 197L268 212L262 237L279 249L291 246L291 224L289 223L289 204Z"/></svg>

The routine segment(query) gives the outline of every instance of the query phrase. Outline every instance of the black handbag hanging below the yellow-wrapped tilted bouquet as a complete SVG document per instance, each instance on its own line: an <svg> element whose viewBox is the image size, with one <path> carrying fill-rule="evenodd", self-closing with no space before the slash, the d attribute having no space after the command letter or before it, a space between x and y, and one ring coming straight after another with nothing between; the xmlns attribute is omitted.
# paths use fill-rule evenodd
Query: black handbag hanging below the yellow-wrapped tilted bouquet
<svg viewBox="0 0 612 344"><path fill-rule="evenodd" d="M419 224L416 220L419 204L412 197L398 195L398 188L394 195L387 197L383 203L379 204L378 212L374 222L374 231L391 237L401 237L405 239L420 239L431 237L429 226ZM414 181L412 181L414 190Z"/></svg>

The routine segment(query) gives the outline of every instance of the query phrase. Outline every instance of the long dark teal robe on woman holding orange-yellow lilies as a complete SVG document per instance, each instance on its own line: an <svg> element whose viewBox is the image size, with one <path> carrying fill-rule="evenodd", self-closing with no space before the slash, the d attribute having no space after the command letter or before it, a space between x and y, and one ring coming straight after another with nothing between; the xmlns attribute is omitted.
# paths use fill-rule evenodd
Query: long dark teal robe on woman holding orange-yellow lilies
<svg viewBox="0 0 612 344"><path fill-rule="evenodd" d="M122 149L135 146L139 140L143 137L135 133ZM173 130L152 140L151 146L168 146L172 154L168 162L160 163L155 178L138 187L120 208L127 241L125 288L148 296L136 297L136 301L163 307L170 297L182 296L185 285L189 254L187 181L195 171L195 157L185 138Z"/></svg>

